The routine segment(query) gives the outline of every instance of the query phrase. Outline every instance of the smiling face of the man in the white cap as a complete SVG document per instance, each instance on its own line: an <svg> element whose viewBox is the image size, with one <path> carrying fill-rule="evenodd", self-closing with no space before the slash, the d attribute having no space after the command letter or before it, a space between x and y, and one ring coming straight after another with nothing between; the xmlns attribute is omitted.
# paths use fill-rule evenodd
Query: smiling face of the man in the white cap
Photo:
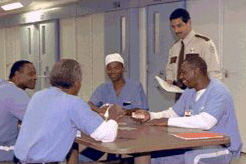
<svg viewBox="0 0 246 164"><path fill-rule="evenodd" d="M120 62L112 62L106 66L106 73L112 82L122 80L124 78L125 68Z"/></svg>

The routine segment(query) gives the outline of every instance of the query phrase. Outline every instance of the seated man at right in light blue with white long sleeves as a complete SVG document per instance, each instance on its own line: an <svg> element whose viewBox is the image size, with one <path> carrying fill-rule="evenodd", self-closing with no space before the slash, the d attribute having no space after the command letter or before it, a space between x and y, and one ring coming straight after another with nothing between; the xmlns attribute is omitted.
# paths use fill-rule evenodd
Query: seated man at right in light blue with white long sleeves
<svg viewBox="0 0 246 164"><path fill-rule="evenodd" d="M199 128L222 133L231 138L231 144L153 153L151 162L225 164L230 163L233 157L239 157L241 137L232 96L226 86L208 77L207 65L198 56L185 59L180 79L188 88L172 108L162 112L138 110L134 116L141 116L140 121L148 125Z"/></svg>

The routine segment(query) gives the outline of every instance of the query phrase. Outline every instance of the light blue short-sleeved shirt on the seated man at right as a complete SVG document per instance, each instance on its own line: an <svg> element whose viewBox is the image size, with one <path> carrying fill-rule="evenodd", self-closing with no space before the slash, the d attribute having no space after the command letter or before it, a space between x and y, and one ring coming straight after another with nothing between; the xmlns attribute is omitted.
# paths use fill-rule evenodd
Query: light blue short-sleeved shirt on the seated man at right
<svg viewBox="0 0 246 164"><path fill-rule="evenodd" d="M192 115L206 112L217 119L217 124L210 129L211 132L223 133L231 138L228 149L234 156L241 152L241 137L238 130L232 96L226 86L219 80L211 79L208 87L196 102L196 90L186 89L173 110L179 116L184 116L185 111L192 111Z"/></svg>

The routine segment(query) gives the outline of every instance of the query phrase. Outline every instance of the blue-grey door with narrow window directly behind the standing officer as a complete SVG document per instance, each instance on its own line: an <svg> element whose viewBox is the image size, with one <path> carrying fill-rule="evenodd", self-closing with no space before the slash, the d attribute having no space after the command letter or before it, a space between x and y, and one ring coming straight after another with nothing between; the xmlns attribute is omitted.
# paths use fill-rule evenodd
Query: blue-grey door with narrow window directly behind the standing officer
<svg viewBox="0 0 246 164"><path fill-rule="evenodd" d="M168 51L175 42L170 29L169 15L176 8L184 7L184 2L166 3L147 7L147 93L151 111L161 111L172 106L174 93L164 91L155 76L165 79Z"/></svg>

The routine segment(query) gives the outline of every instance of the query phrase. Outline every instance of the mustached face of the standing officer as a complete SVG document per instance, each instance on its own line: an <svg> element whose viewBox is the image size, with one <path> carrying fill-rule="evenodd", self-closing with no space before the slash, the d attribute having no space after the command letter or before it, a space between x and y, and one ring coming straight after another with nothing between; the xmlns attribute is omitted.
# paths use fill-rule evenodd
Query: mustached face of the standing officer
<svg viewBox="0 0 246 164"><path fill-rule="evenodd" d="M191 31L191 21L183 22L181 18L171 20L171 28L178 39L184 39Z"/></svg>

